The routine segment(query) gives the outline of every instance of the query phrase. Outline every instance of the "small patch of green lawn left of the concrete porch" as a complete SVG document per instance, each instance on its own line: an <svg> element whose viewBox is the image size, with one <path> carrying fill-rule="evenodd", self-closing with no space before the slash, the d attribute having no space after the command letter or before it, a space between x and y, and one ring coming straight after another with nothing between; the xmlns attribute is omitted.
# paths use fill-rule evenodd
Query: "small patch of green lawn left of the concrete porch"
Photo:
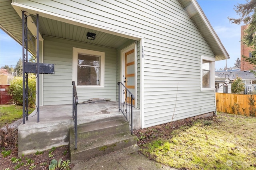
<svg viewBox="0 0 256 170"><path fill-rule="evenodd" d="M29 108L28 113L34 111L35 108ZM12 123L22 118L23 107L17 105L1 105L0 106L0 127L4 127L6 123Z"/></svg>

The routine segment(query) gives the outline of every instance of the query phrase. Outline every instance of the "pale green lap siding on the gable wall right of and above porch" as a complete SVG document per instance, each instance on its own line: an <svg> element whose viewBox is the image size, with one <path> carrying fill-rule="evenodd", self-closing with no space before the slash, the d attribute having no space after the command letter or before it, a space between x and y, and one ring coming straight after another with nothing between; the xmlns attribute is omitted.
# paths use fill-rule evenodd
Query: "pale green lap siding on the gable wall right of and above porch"
<svg viewBox="0 0 256 170"><path fill-rule="evenodd" d="M179 1L16 2L144 37L142 127L215 111L214 91L200 91L200 55L214 58L214 53ZM138 68L139 64L140 60ZM69 72L64 75L70 80L70 68L66 71ZM63 76L62 72L58 74ZM67 82L63 88L61 91L68 89ZM81 91L78 93L82 95Z"/></svg>

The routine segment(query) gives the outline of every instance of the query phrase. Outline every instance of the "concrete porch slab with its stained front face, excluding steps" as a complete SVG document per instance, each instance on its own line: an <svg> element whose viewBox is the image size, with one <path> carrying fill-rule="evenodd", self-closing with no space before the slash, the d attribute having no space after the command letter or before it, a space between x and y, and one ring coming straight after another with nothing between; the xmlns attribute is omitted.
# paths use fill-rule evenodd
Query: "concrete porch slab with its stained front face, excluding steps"
<svg viewBox="0 0 256 170"><path fill-rule="evenodd" d="M123 117L118 112L118 102L78 104L78 125L109 117ZM34 115L34 116L33 116ZM125 119L125 118L124 118ZM140 110L133 108L133 128L140 128ZM73 127L72 105L40 107L40 122L36 110L25 124L18 126L18 156L68 145L69 128Z"/></svg>

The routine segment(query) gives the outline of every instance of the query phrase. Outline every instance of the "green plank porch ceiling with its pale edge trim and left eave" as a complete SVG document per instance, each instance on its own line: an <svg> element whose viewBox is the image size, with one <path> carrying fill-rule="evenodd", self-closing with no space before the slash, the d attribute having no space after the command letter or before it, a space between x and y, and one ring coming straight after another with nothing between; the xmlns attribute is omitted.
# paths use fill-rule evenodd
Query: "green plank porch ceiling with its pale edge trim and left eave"
<svg viewBox="0 0 256 170"><path fill-rule="evenodd" d="M39 17L39 39L43 40L43 36L52 36L73 41L80 41L104 47L118 49L122 44L129 40L140 40L143 37L122 33L117 30L105 29L99 25L82 22L51 14L46 11L18 4L12 0L0 1L0 28L5 31L10 37L22 45L22 11L26 11L28 18L29 35L36 36L36 14ZM54 25L54 26L50 26ZM96 39L87 39L87 32L95 33ZM35 45L28 41L28 50L35 55Z"/></svg>

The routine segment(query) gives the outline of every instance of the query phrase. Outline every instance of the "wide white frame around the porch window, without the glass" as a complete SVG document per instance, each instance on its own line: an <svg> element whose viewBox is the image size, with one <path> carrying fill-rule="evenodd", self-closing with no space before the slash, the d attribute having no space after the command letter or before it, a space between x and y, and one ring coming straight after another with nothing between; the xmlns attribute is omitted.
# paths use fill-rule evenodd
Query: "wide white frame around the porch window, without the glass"
<svg viewBox="0 0 256 170"><path fill-rule="evenodd" d="M77 85L78 54L100 56L100 85L79 85L79 86ZM104 52L73 47L72 80L76 83L76 88L103 88L105 86L104 77L105 77L105 53Z"/></svg>

